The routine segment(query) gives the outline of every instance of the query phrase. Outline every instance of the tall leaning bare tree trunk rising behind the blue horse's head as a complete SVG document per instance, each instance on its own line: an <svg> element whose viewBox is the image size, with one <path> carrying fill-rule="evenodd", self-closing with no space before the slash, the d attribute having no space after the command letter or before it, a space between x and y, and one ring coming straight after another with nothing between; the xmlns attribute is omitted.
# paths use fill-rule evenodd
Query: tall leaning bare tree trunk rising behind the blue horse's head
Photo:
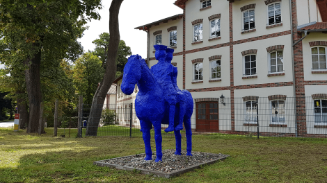
<svg viewBox="0 0 327 183"><path fill-rule="evenodd" d="M106 71L104 73L104 78L102 82L100 82L99 87L97 87L97 91L93 97L90 116L88 117L88 125L86 128L86 136L97 136L97 127L99 125L104 99L106 98L106 93L115 80L115 71L117 70L115 60L117 58L118 46L120 42L118 14L122 1L123 0L113 0L109 8L110 42L106 60Z"/></svg>

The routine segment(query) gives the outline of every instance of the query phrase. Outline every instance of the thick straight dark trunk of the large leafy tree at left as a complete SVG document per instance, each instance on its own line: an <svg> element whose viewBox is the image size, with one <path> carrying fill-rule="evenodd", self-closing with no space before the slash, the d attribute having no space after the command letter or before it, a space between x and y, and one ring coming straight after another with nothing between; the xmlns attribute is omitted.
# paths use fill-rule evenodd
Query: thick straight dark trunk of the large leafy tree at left
<svg viewBox="0 0 327 183"><path fill-rule="evenodd" d="M38 44L33 44L33 46L36 49L39 47ZM27 96L29 96L29 125L27 133L38 132L41 104L40 64L41 49L38 49L33 58L25 60L25 65L29 68L25 70L26 91Z"/></svg>

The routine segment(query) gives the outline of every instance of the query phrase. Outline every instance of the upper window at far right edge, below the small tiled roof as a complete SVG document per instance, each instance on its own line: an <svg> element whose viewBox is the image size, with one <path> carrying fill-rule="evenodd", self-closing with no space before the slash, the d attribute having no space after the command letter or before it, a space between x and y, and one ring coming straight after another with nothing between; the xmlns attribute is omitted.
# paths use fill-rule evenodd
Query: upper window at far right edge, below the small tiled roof
<svg viewBox="0 0 327 183"><path fill-rule="evenodd" d="M326 69L325 47L311 48L312 69Z"/></svg>

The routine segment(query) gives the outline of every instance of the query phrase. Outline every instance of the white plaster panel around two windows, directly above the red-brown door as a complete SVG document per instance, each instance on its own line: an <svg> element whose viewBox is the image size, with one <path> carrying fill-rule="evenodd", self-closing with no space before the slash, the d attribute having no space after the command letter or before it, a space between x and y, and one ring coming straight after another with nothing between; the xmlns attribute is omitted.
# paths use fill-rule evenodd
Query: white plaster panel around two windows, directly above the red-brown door
<svg viewBox="0 0 327 183"><path fill-rule="evenodd" d="M209 82L209 78L211 74L209 57L213 55L221 55L221 81L220 82ZM192 84L193 81L192 60L196 58L203 58L203 69L202 69L203 83ZM230 47L229 46L186 54L185 62L186 62L185 63L185 70L186 70L185 88L186 89L230 86Z"/></svg>

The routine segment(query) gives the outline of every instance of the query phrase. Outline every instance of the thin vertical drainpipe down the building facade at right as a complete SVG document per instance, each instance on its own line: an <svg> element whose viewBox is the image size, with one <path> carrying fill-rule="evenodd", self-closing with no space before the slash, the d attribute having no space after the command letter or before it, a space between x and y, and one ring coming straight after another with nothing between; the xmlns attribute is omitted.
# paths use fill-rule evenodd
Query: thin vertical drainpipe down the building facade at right
<svg viewBox="0 0 327 183"><path fill-rule="evenodd" d="M291 44L293 44L293 19L292 19L292 0L289 0L289 18L291 19ZM294 114L295 114L295 137L298 137L298 123L296 115L296 92L295 92L295 69L294 69L294 45L292 45L292 70L293 70L293 95L294 95Z"/></svg>

